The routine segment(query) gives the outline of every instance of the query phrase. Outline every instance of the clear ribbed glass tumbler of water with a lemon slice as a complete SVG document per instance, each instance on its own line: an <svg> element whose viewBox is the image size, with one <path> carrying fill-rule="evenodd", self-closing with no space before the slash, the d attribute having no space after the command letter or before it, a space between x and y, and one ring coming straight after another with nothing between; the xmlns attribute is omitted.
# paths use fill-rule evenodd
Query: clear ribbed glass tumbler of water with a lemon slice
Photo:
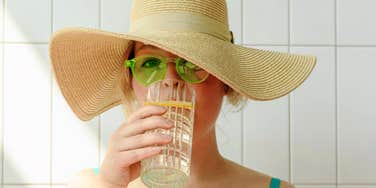
<svg viewBox="0 0 376 188"><path fill-rule="evenodd" d="M149 86L144 105L167 107L163 116L174 127L146 132L168 134L173 139L158 155L141 161L141 180L153 188L185 187L190 175L195 92L184 82L165 79Z"/></svg>

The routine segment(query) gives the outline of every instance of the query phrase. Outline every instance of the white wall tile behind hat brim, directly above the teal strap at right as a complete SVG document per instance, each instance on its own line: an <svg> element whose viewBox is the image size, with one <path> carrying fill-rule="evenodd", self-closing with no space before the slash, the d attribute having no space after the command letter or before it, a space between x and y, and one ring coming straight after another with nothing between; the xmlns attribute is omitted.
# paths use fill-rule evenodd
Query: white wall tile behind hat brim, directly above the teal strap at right
<svg viewBox="0 0 376 188"><path fill-rule="evenodd" d="M260 47L287 52L287 47ZM289 180L288 96L249 101L243 113L244 163L258 171Z"/></svg>

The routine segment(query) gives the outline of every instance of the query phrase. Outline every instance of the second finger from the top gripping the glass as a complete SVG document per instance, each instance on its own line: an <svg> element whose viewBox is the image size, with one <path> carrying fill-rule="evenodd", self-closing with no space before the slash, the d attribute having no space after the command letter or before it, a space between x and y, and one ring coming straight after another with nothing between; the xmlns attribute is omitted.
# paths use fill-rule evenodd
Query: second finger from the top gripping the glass
<svg viewBox="0 0 376 188"><path fill-rule="evenodd" d="M162 116L150 116L145 119L135 120L127 127L123 127L119 130L119 134L122 137L130 137L138 134L142 134L145 131L163 128L170 129L174 126L174 122Z"/></svg>

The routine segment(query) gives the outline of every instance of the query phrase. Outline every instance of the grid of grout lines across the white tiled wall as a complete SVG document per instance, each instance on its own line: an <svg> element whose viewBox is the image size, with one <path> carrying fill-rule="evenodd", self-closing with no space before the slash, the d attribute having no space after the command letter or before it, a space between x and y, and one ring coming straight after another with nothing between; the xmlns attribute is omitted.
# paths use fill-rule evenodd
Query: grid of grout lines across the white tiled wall
<svg viewBox="0 0 376 188"><path fill-rule="evenodd" d="M2 0L2 3L3 3L3 34L2 34L2 38L3 40L5 41L5 1L6 0ZM336 164L335 164L335 186L338 187L338 185L375 185L375 184L339 184L338 182L338 172L339 172L339 161L338 161L338 156L339 156L339 124L338 124L338 47L376 47L376 45L337 45L337 30L338 30L338 21L337 21L337 0L334 0L334 3L335 3L335 6L334 6L334 21L335 21L335 24L334 24L334 35L335 35L335 38L334 38L334 42L335 44L334 45L325 45L325 44L291 44L291 15L290 15L290 1L291 0L288 0L288 44L287 44L287 47L288 47L288 52L290 53L291 52L291 48L292 47L295 47L295 46L299 46L299 47L333 47L334 48L334 62L335 62L335 72L334 72L334 76L335 76L335 147L336 147L336 150L335 150L335 159L336 159ZM53 31L53 2L54 0L51 0L51 32ZM101 20L101 6L102 6L102 0L99 0L99 27L101 28L102 27L102 20ZM6 44L48 44L45 43L45 42L31 42L31 43L24 43L24 42L4 42L2 41L1 42L1 46L2 46L2 134L1 134L1 138L2 138L2 175L1 175L1 185L42 185L42 184L4 184L4 111L5 111L5 105L4 105L4 93L5 93L5 80L4 80L4 77L5 77L5 70L4 70L4 67L5 67L5 54L4 54L4 51L5 51L5 45ZM243 0L241 0L241 43L243 43ZM286 46L286 45L279 45L279 44L254 44L253 46ZM53 184L52 183L52 114L53 114L53 111L52 111L52 107L53 107L53 104L52 104L52 101L53 101L53 95L52 95L52 92L53 92L53 80L52 80L52 69L50 69L50 187L52 187L53 185L61 185L61 184ZM243 124L243 110L241 111L241 131L242 131L242 134L241 134L241 163L244 164L244 124ZM292 169L292 163L291 163L291 156L292 156L292 151L291 151L291 131L292 131L292 128L291 128L291 97L290 95L288 95L288 113L289 113L289 117L288 117L288 122L289 122L289 130L288 130L288 134L289 134L289 181L291 182L291 169ZM99 119L98 119L98 162L100 163L100 139L101 139L101 135L100 135L100 131L101 131L101 115L99 116ZM299 185L309 185L308 183L298 183ZM332 184L315 184L315 183L311 183L311 185L332 185Z"/></svg>

